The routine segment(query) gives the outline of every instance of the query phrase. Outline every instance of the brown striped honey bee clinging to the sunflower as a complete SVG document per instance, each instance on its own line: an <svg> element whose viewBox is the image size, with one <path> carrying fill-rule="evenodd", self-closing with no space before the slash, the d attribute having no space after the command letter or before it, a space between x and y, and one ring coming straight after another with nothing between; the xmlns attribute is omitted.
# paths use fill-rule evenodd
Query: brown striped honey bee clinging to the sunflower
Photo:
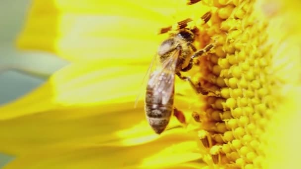
<svg viewBox="0 0 301 169"><path fill-rule="evenodd" d="M206 23L210 17L211 13L207 12L201 19ZM148 70L150 77L146 88L145 113L149 125L157 134L164 131L173 112L177 118L184 116L173 105L175 75L188 81L197 93L208 94L200 83L194 84L189 77L181 75L181 72L189 71L193 67L194 58L202 56L214 47L214 43L210 43L197 50L193 45L196 30L186 28L190 21L192 19L188 18L177 23L178 29L160 44ZM160 34L171 29L162 28ZM183 121L183 118L181 119Z"/></svg>

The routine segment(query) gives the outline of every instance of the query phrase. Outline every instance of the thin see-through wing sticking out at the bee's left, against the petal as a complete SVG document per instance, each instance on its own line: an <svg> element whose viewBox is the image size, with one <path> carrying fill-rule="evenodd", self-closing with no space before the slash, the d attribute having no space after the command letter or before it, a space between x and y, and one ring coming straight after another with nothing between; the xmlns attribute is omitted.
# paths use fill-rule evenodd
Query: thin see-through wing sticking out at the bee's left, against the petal
<svg viewBox="0 0 301 169"><path fill-rule="evenodd" d="M150 78L151 72L153 72L155 68L161 67L158 58L159 58L158 55L155 54L153 56L152 60L151 60L150 67L148 68L147 73L145 74L145 76L142 80L142 83L141 83L141 86L140 86L140 89L139 89L139 93L138 93L138 95L136 97L136 100L135 100L134 108L137 107L139 98L141 97L142 93L145 92L145 90L146 90L146 85L147 85L147 82Z"/></svg>

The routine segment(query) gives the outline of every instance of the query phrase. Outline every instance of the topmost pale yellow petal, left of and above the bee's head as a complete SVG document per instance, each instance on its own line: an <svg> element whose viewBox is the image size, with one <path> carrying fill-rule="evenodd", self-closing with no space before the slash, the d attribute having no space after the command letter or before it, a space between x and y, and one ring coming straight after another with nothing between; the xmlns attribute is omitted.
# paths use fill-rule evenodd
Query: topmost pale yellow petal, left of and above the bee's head
<svg viewBox="0 0 301 169"><path fill-rule="evenodd" d="M197 18L209 10L198 7L172 0L35 0L17 46L49 51L71 61L146 61L149 57L145 56L153 56L166 38L157 36L157 31L192 17L192 9Z"/></svg>

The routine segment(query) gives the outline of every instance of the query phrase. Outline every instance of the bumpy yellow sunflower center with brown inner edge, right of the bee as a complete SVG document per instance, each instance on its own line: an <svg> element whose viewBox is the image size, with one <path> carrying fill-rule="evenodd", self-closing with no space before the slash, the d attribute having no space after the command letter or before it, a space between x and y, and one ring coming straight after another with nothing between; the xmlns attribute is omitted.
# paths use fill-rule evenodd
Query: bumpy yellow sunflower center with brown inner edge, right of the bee
<svg viewBox="0 0 301 169"><path fill-rule="evenodd" d="M199 138L208 164L262 168L265 127L273 114L272 54L267 21L254 9L255 0L214 0L211 25L200 39L215 38L213 53L200 58L201 84L220 92L205 96ZM213 163L212 163L213 162Z"/></svg>

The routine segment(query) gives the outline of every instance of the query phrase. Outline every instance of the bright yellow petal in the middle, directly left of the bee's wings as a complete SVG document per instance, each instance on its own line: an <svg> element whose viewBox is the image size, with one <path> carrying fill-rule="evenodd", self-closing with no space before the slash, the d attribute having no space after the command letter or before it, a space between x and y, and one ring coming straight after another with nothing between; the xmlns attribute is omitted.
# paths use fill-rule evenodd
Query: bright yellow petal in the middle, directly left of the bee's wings
<svg viewBox="0 0 301 169"><path fill-rule="evenodd" d="M120 103L133 107L127 103L135 100L141 79L145 75L147 66L117 67L98 64L74 64L56 72L50 80L17 101L0 107L0 119L13 118L26 114L47 110L61 109L76 105L106 106ZM120 78L116 78L120 77ZM139 81L137 81L137 79ZM122 85L121 85L122 84ZM99 104L100 103L100 104ZM132 104L132 103L130 103ZM125 110L115 106L108 106L108 110ZM112 108L112 109L110 109Z"/></svg>

